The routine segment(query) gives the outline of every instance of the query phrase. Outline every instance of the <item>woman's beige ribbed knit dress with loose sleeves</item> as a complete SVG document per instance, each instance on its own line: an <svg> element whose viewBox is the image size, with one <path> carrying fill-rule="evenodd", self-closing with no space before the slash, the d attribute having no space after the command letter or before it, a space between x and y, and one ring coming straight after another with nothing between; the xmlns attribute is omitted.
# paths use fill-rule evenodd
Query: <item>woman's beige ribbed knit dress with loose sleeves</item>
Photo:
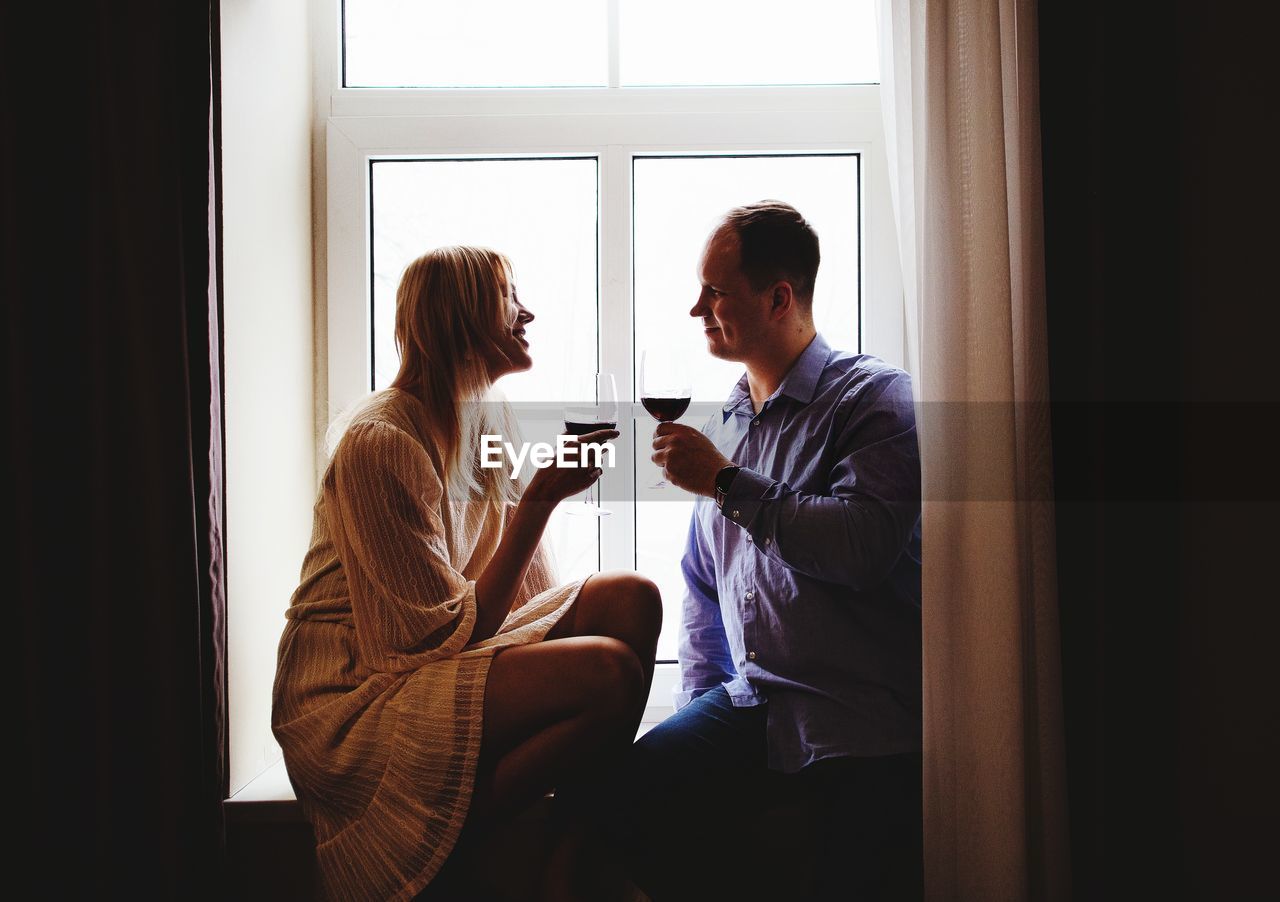
<svg viewBox="0 0 1280 902"><path fill-rule="evenodd" d="M285 612L271 729L325 898L430 883L467 815L494 653L541 640L582 585L556 586L539 548L498 633L470 644L475 581L513 508L451 500L434 434L397 389L352 421Z"/></svg>

